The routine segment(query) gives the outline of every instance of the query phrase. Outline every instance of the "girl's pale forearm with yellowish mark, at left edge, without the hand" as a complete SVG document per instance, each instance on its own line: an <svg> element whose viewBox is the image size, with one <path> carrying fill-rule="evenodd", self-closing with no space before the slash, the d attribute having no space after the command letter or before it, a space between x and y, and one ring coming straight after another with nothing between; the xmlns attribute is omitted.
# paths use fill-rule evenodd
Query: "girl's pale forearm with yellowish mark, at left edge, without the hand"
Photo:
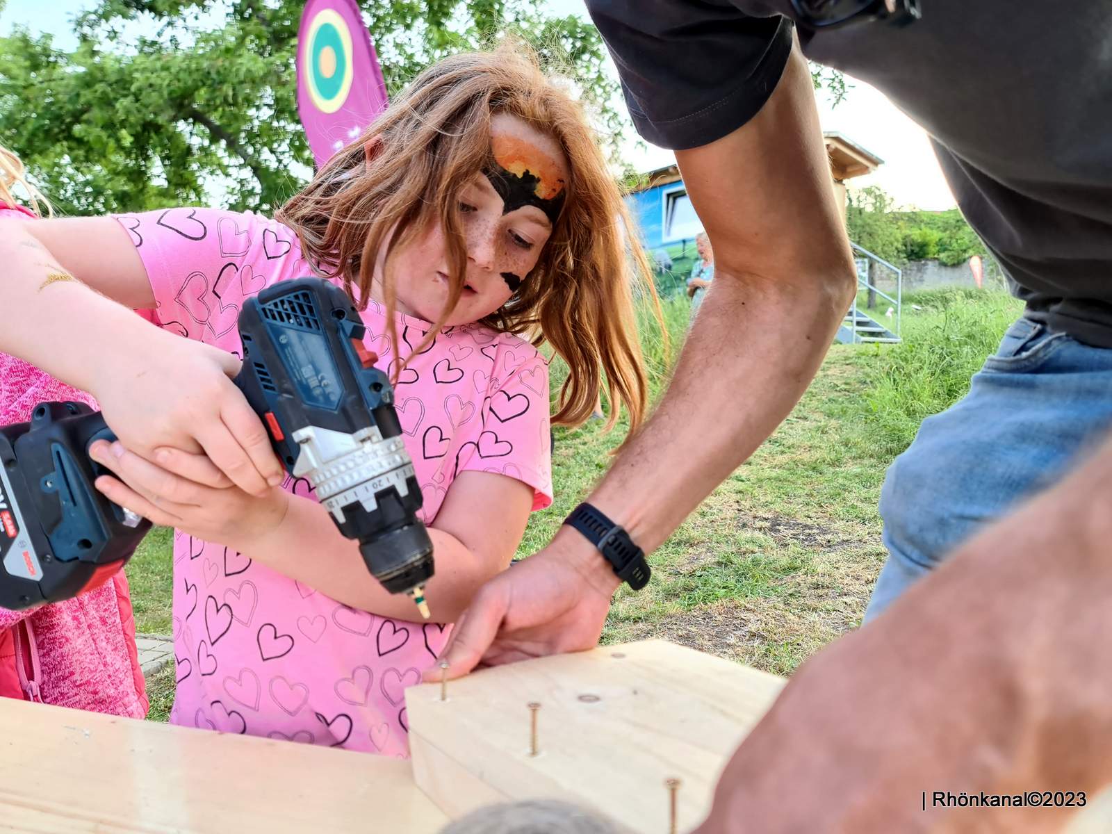
<svg viewBox="0 0 1112 834"><path fill-rule="evenodd" d="M92 390L106 363L149 350L159 331L77 280L29 226L0 221L0 262L7 274L0 350Z"/></svg>

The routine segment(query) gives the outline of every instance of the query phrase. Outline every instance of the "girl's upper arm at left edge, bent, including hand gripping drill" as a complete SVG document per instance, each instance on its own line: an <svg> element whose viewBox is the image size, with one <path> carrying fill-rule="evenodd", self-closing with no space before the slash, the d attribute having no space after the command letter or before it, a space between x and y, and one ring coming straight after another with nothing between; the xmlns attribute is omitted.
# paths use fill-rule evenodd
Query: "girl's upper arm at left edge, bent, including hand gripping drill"
<svg viewBox="0 0 1112 834"><path fill-rule="evenodd" d="M112 429L146 457L203 451L259 493L281 468L258 417L231 384L239 361L151 327L146 269L113 218L0 221L0 350L92 394Z"/></svg>

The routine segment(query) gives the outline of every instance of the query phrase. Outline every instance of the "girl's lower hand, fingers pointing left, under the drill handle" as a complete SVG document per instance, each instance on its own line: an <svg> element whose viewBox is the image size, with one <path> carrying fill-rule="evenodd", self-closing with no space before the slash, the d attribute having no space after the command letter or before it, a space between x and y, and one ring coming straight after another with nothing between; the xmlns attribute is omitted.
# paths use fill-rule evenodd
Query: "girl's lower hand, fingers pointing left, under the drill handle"
<svg viewBox="0 0 1112 834"><path fill-rule="evenodd" d="M166 466L162 468L120 443L99 440L89 447L89 454L119 476L119 480L107 475L97 478L97 489L109 500L155 524L177 527L208 542L245 550L286 516L286 492L270 487L262 496L254 496L228 486L224 474L203 455L161 449L157 459Z"/></svg>

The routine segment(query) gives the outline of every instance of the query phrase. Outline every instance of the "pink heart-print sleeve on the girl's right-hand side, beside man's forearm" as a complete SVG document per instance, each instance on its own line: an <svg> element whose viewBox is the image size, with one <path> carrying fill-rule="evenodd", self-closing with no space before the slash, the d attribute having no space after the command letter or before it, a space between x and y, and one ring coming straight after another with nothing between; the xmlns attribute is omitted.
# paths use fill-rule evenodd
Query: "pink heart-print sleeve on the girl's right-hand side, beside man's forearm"
<svg viewBox="0 0 1112 834"><path fill-rule="evenodd" d="M504 337L495 367L506 376L490 380L475 449L460 471L517 478L533 487L533 509L544 509L553 503L548 363L527 342Z"/></svg>

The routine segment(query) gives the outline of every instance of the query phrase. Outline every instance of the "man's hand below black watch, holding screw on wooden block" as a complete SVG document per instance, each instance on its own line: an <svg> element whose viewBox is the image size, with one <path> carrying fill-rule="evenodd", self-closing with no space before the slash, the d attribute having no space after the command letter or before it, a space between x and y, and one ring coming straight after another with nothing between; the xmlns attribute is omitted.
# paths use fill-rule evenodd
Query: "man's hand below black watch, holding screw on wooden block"
<svg viewBox="0 0 1112 834"><path fill-rule="evenodd" d="M440 657L448 676L477 665L594 648L610 597L620 584L609 564L577 532L562 527L543 550L484 585L456 623ZM425 673L437 681L440 669Z"/></svg>

